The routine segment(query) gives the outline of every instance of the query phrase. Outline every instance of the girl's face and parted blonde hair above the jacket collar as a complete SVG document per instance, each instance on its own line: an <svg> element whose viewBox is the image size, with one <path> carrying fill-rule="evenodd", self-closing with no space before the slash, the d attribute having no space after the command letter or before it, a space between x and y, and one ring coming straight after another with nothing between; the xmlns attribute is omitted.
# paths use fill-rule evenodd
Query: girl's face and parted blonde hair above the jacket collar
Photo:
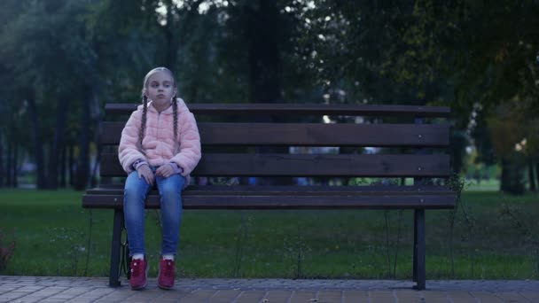
<svg viewBox="0 0 539 303"><path fill-rule="evenodd" d="M176 96L174 79L164 71L152 74L146 82L145 95L153 101L156 109L167 109L172 97Z"/></svg>

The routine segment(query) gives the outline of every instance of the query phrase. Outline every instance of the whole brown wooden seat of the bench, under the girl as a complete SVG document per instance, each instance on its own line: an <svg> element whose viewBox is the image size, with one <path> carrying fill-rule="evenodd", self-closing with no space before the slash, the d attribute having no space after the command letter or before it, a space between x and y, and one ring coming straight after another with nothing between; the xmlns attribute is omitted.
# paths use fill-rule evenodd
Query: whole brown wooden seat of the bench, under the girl
<svg viewBox="0 0 539 303"><path fill-rule="evenodd" d="M444 209L455 206L456 194L444 186L190 186L183 193L185 209ZM85 208L123 208L121 187L88 190ZM146 208L160 208L152 190Z"/></svg>

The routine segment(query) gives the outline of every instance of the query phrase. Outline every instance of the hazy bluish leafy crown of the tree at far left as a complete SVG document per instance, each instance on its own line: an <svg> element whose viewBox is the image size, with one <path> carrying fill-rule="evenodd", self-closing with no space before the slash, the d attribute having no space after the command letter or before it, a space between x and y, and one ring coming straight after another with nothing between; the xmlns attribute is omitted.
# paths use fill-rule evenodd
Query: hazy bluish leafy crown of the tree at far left
<svg viewBox="0 0 539 303"><path fill-rule="evenodd" d="M3 28L2 65L20 88L43 97L73 93L96 76L97 55L85 40L82 16L88 1L31 1Z"/></svg>

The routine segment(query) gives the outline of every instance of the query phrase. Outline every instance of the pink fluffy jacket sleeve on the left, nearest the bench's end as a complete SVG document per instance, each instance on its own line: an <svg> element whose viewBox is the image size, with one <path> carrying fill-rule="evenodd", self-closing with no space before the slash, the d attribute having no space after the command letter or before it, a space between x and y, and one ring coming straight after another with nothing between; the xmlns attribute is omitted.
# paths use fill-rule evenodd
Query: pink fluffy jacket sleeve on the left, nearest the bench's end
<svg viewBox="0 0 539 303"><path fill-rule="evenodd" d="M137 159L147 161L145 155L138 149L138 131L140 130L142 113L135 111L129 117L128 122L121 131L120 146L118 147L118 159L126 173L133 171L131 165Z"/></svg>

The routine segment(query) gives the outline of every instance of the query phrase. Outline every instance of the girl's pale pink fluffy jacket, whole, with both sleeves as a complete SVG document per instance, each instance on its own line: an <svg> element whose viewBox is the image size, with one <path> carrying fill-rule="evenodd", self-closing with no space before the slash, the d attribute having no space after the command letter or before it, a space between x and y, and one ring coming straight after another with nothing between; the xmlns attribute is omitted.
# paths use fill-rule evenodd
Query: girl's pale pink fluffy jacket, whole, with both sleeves
<svg viewBox="0 0 539 303"><path fill-rule="evenodd" d="M184 169L182 175L187 179L185 184L189 184L189 175L199 163L201 154L199 128L184 100L177 98L176 102L178 105L177 140L174 139L172 106L159 113L152 106L152 101L148 102L145 136L142 141L144 153L137 147L144 105L139 105L137 111L131 114L121 132L118 148L118 158L126 173L133 171L131 165L137 159L145 159L154 167L175 162Z"/></svg>

